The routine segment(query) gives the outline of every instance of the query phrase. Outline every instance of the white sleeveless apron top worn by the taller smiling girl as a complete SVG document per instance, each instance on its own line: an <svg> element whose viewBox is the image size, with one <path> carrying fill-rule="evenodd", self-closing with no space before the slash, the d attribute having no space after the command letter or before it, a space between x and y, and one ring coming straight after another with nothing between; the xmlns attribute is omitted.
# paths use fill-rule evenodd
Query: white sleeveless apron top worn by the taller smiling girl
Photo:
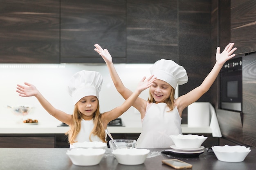
<svg viewBox="0 0 256 170"><path fill-rule="evenodd" d="M166 103L148 102L136 148L170 148L174 145L170 135L182 134L181 118L177 107L168 110Z"/></svg>

